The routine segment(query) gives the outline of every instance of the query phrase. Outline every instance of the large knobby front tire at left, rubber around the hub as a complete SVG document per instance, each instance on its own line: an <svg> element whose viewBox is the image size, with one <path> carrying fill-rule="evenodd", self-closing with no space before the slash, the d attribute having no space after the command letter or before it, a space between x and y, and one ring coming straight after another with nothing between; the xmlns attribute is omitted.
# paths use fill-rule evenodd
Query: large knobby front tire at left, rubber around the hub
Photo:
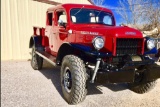
<svg viewBox="0 0 160 107"><path fill-rule="evenodd" d="M65 69L68 68L71 73L72 87L67 92L64 84ZM83 61L74 55L67 55L63 58L61 66L61 86L64 99L68 104L78 104L82 102L87 94L86 89L86 68Z"/></svg>

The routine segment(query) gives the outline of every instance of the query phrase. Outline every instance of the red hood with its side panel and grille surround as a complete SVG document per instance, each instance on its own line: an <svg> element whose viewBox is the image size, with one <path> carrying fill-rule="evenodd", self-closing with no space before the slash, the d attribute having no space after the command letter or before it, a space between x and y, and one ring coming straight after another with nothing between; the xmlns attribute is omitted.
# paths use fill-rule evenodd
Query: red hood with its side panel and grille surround
<svg viewBox="0 0 160 107"><path fill-rule="evenodd" d="M116 26L104 26L104 25L100 26L78 25L74 26L72 30L75 34L74 39L73 37L72 39L74 40L75 43L78 43L80 45L83 44L86 46L93 47L92 41L94 40L94 38L96 36L101 36L104 39L105 44L100 51L104 53L107 52L112 53L114 56L116 55L116 46L118 40L122 41L125 39L125 41L122 41L123 44L125 45L132 44L132 45L139 45L140 47L144 46L142 33L130 27L116 27ZM138 42L135 42L135 40ZM131 44L129 41L131 42ZM141 49L141 53L143 53L143 49Z"/></svg>

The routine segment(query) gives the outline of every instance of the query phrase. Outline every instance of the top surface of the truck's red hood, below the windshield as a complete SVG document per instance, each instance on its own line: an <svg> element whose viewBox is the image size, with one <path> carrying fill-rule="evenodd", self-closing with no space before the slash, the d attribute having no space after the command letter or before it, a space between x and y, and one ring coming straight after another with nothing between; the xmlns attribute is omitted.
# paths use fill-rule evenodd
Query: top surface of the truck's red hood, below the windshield
<svg viewBox="0 0 160 107"><path fill-rule="evenodd" d="M99 35L106 37L117 37L117 38L142 38L143 35L140 31L130 27L118 27L118 26L94 26L87 25L78 26L75 29L76 34L79 35Z"/></svg>

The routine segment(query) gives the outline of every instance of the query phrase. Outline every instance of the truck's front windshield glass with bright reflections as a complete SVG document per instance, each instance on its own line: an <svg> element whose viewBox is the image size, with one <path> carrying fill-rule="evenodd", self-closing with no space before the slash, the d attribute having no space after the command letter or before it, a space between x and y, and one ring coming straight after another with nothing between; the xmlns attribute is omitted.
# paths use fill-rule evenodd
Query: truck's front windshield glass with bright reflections
<svg viewBox="0 0 160 107"><path fill-rule="evenodd" d="M76 24L105 24L113 26L113 16L105 11L76 8L71 10L71 21Z"/></svg>

